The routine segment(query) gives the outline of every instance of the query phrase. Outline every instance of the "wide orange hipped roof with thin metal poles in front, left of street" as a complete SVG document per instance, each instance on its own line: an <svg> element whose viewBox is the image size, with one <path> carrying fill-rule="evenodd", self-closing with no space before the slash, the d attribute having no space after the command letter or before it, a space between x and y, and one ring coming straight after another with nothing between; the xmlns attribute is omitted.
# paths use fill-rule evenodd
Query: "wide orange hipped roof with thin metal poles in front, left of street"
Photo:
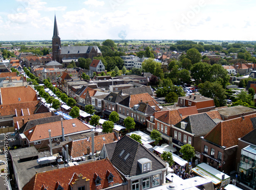
<svg viewBox="0 0 256 190"><path fill-rule="evenodd" d="M64 120L62 121L62 123L65 135L82 131L89 132L91 129L87 125L77 120L77 118L74 118L72 120ZM75 124L74 127L73 124ZM29 141L37 141L49 138L49 129L51 129L51 137L61 136L62 134L61 122L36 125L35 127L25 131L24 134L26 135Z"/></svg>

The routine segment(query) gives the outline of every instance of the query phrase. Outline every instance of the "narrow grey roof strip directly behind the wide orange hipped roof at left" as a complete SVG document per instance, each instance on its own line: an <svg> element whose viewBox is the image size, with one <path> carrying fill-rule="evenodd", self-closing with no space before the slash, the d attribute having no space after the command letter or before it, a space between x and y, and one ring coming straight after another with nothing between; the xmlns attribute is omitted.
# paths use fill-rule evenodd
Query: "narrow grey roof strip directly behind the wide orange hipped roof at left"
<svg viewBox="0 0 256 190"><path fill-rule="evenodd" d="M31 129L32 127L34 127L36 125L53 123L53 122L59 122L59 121L61 121L61 118L63 120L65 120L61 115L55 115L55 116L51 116L51 117L39 118L37 120L30 120L24 126L22 126L18 130L18 132L19 133L24 133L25 131Z"/></svg>

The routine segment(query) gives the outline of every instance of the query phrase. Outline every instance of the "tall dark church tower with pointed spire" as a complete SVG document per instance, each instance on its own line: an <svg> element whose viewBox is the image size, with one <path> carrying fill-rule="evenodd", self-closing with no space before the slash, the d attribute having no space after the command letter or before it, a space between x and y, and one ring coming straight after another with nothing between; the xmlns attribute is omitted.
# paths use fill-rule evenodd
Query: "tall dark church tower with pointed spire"
<svg viewBox="0 0 256 190"><path fill-rule="evenodd" d="M56 15L54 16L54 29L52 36L52 60L61 63L61 43L57 27Z"/></svg>

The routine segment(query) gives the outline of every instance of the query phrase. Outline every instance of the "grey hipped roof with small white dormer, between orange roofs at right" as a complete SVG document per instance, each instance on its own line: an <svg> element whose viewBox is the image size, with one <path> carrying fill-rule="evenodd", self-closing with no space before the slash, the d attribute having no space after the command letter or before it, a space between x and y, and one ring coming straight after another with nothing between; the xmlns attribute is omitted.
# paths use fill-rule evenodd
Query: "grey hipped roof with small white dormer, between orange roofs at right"
<svg viewBox="0 0 256 190"><path fill-rule="evenodd" d="M195 134L195 136L205 135L211 131L217 124L206 113L189 115L181 122L186 122L185 131ZM181 122L175 127L181 128Z"/></svg>

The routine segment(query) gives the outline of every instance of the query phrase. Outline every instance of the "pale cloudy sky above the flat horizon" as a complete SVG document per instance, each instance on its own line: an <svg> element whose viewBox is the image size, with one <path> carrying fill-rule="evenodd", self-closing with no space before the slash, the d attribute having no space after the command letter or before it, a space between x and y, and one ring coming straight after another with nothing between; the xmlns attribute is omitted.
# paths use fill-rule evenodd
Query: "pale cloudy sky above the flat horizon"
<svg viewBox="0 0 256 190"><path fill-rule="evenodd" d="M0 41L256 40L255 0L2 0Z"/></svg>

